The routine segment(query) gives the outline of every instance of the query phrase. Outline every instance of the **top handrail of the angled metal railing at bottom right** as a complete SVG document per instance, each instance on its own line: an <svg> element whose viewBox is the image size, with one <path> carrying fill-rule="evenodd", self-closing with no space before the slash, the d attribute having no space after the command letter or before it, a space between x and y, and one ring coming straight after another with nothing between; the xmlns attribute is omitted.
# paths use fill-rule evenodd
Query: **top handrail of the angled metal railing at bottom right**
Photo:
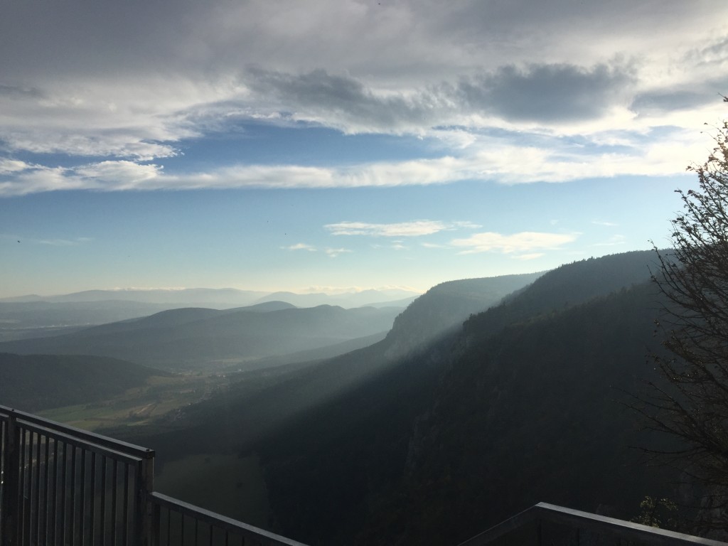
<svg viewBox="0 0 728 546"><path fill-rule="evenodd" d="M523 512L514 515L512 518L462 542L459 546L485 546L534 521L560 523L572 529L611 534L622 539L654 546L726 546L725 542L717 540L694 537L689 534L668 531L667 529L658 529L641 523L608 518L604 515L572 510L571 508L550 505L546 502L539 502L539 504L523 510Z"/></svg>

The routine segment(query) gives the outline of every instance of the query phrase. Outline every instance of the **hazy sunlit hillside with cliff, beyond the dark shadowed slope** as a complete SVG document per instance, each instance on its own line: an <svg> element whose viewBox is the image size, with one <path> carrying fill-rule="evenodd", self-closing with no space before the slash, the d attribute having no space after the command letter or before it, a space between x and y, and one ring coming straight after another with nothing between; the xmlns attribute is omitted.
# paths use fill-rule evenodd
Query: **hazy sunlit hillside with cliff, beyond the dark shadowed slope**
<svg viewBox="0 0 728 546"><path fill-rule="evenodd" d="M513 288L523 288L535 277L537 275L513 275L455 281L448 283L446 297L438 295L438 290L430 290L418 299L418 302L423 300L424 303L411 304L397 317L400 324L422 324L416 331L417 343L411 341L406 329L395 327L385 339L369 347L322 362L293 363L276 368L275 373L242 373L237 383L231 384L220 397L189 408L186 425L194 427L194 435L203 435L206 445L211 443L229 448L232 436L238 445L253 446L261 438L274 435L277 427L296 419L297 415L307 414L327 400L346 397L347 392L381 376L390 368L400 368L401 359L392 355L401 352L402 347L418 347L418 353L426 350L438 339L443 328L462 326L470 309L487 309L499 303ZM481 292L472 289L475 281L479 281ZM438 306L446 310L446 319L435 321L435 327L432 327L432 320L419 319L420 309L432 312ZM422 378L427 376L426 373L419 375ZM175 453L184 448L189 443L188 435L189 429L186 429L138 441L158 441L159 446L165 446L159 449L160 456L164 458L165 451Z"/></svg>

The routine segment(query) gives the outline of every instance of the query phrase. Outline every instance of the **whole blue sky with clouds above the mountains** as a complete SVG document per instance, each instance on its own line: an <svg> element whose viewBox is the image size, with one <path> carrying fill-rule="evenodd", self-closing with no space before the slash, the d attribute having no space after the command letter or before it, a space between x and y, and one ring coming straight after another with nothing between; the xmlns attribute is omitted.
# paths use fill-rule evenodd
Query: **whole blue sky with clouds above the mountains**
<svg viewBox="0 0 728 546"><path fill-rule="evenodd" d="M727 23L724 0L3 0L0 298L424 291L664 247L727 114Z"/></svg>

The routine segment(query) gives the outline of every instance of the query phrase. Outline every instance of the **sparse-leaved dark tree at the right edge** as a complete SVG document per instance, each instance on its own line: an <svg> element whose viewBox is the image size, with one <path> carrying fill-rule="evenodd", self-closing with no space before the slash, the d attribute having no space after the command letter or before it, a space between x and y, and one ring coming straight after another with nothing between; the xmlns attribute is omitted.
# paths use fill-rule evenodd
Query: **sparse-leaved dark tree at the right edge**
<svg viewBox="0 0 728 546"><path fill-rule="evenodd" d="M671 355L655 358L666 381L652 384L641 408L652 428L681 440L653 453L707 486L703 507L724 505L728 490L728 122L713 138L705 163L688 167L698 188L677 191L673 249L657 250L653 280L665 296Z"/></svg>

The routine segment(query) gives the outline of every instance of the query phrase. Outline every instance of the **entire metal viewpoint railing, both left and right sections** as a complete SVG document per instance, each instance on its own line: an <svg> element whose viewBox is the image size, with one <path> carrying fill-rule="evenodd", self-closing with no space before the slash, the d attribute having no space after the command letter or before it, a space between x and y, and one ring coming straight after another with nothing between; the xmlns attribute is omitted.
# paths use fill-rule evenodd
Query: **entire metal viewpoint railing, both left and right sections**
<svg viewBox="0 0 728 546"><path fill-rule="evenodd" d="M0 546L305 546L154 491L154 451L0 405ZM538 505L460 546L719 546Z"/></svg>

